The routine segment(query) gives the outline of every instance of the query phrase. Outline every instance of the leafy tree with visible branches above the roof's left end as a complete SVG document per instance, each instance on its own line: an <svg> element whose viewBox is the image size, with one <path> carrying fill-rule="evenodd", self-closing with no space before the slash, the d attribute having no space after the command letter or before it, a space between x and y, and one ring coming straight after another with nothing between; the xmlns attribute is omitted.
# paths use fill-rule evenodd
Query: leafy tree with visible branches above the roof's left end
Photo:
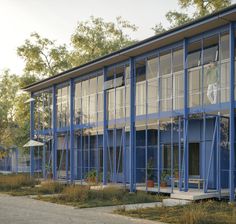
<svg viewBox="0 0 236 224"><path fill-rule="evenodd" d="M32 33L30 39L17 48L17 54L25 61L24 72L39 79L55 75L72 67L70 52L65 44Z"/></svg>

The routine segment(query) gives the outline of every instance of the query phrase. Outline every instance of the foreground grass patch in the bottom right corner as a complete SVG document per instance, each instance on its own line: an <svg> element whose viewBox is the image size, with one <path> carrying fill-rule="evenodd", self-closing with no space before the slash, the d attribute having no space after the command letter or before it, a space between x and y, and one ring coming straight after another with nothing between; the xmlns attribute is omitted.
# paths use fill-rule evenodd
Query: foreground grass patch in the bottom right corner
<svg viewBox="0 0 236 224"><path fill-rule="evenodd" d="M236 206L227 202L205 201L184 206L155 207L125 211L118 214L165 223L178 224L236 224Z"/></svg>

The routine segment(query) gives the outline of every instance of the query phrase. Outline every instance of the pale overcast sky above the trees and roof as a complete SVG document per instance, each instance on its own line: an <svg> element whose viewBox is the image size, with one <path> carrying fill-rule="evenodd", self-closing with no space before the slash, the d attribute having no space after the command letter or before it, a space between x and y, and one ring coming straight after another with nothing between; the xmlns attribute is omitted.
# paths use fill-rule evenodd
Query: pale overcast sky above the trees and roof
<svg viewBox="0 0 236 224"><path fill-rule="evenodd" d="M166 12L174 9L177 0L0 0L0 72L22 72L16 49L32 32L68 44L78 21L122 16L139 27L133 38L141 40L153 35L155 24L166 24Z"/></svg>

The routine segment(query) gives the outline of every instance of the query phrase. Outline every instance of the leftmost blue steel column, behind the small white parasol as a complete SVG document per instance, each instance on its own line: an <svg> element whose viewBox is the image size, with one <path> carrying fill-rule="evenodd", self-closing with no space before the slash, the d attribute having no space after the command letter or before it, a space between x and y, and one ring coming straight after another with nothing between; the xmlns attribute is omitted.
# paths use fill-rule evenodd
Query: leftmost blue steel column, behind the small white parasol
<svg viewBox="0 0 236 224"><path fill-rule="evenodd" d="M33 93L31 93L33 98ZM30 101L30 140L34 139L34 100ZM34 175L34 147L30 147L30 176Z"/></svg>

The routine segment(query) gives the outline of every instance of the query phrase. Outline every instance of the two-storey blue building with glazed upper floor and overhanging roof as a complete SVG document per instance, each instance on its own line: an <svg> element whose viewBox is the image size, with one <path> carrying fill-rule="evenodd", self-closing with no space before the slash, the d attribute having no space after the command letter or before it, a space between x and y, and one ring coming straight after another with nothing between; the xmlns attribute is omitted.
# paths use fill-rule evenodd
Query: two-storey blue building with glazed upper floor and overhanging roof
<svg viewBox="0 0 236 224"><path fill-rule="evenodd" d="M44 175L233 201L235 21L232 5L25 87Z"/></svg>

